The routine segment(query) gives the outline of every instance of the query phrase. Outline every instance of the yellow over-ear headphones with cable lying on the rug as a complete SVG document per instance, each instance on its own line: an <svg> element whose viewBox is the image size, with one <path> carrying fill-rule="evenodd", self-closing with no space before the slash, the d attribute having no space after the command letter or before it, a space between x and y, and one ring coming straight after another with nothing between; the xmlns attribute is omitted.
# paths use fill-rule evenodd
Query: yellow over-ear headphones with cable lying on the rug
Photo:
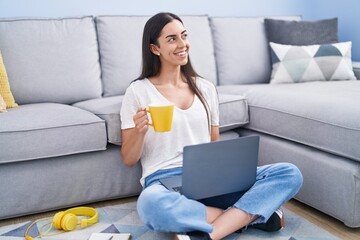
<svg viewBox="0 0 360 240"><path fill-rule="evenodd" d="M44 224L41 228L40 228L40 235L36 236L34 238L37 237L41 237L41 236L53 236L53 235L57 235L60 234L62 232L57 232L55 234L49 234L47 235L47 233L51 230L52 226L54 226L56 229L58 230L62 230L62 231L72 231L76 228L76 226L79 224L79 219L77 216L87 216L89 218L83 218L80 219L80 227L84 228L87 227L89 225L95 224L98 222L99 220L99 215L98 212L96 211L96 209L94 208L90 208L90 207L76 207L76 208L70 208L66 211L62 211L62 212L58 212L54 215L54 217L50 217L50 218L42 218L39 220L34 221L33 223L31 223L29 225L29 227L26 229L25 233L24 233L24 237L27 240L31 240L33 239L33 237L27 235L27 233L29 232L30 228L37 222L39 221L43 221L43 220L47 220L47 219L52 219L52 222L50 223L46 223ZM45 232L41 232L42 229L46 226L46 225L50 225L50 227L45 231Z"/></svg>

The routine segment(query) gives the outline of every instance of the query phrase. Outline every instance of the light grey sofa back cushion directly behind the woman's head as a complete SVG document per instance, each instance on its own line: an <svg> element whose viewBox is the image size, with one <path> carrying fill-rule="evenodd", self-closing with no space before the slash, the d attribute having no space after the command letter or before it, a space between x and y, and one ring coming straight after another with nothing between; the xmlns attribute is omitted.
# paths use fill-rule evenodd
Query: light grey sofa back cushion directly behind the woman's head
<svg viewBox="0 0 360 240"><path fill-rule="evenodd" d="M124 94L141 72L142 34L148 16L98 16L104 96ZM190 58L204 78L216 83L213 42L207 16L181 17L189 33Z"/></svg>

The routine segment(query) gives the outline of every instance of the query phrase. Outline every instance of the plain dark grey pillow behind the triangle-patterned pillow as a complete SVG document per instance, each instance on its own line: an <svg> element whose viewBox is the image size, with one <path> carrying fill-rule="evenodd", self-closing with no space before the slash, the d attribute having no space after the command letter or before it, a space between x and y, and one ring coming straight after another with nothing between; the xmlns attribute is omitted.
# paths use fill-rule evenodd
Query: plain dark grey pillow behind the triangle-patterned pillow
<svg viewBox="0 0 360 240"><path fill-rule="evenodd" d="M269 42L287 45L313 45L338 41L337 18L318 21L265 19Z"/></svg>

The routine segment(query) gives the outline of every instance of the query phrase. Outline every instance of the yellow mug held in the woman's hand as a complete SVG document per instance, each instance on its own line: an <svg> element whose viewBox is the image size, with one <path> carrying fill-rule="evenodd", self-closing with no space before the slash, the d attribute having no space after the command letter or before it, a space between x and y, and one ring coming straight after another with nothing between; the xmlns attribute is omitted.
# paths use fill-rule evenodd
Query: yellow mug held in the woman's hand
<svg viewBox="0 0 360 240"><path fill-rule="evenodd" d="M172 118L174 113L174 104L155 105L149 104L151 121L150 126L154 127L155 132L169 132L172 127Z"/></svg>

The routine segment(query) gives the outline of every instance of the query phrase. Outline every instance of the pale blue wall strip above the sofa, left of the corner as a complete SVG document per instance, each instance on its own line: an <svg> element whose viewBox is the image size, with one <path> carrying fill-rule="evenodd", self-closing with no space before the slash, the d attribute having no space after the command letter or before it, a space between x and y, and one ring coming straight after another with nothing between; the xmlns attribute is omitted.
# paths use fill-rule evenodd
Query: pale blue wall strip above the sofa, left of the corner
<svg viewBox="0 0 360 240"><path fill-rule="evenodd" d="M301 13L301 0L0 0L0 17L176 14L239 16Z"/></svg>

